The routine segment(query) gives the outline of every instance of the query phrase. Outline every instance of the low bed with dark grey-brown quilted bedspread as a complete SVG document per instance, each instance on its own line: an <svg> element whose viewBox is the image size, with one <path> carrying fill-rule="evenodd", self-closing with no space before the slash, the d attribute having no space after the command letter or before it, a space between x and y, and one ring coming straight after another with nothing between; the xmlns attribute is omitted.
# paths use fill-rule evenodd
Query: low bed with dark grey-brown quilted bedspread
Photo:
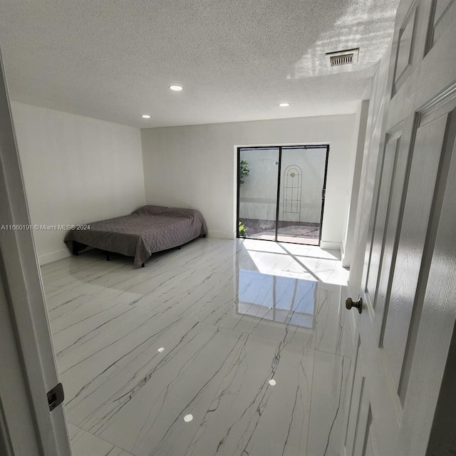
<svg viewBox="0 0 456 456"><path fill-rule="evenodd" d="M86 229L90 227L90 229ZM77 255L86 247L134 257L143 266L155 252L180 247L207 234L206 222L195 209L142 206L129 215L101 220L71 229L64 239Z"/></svg>

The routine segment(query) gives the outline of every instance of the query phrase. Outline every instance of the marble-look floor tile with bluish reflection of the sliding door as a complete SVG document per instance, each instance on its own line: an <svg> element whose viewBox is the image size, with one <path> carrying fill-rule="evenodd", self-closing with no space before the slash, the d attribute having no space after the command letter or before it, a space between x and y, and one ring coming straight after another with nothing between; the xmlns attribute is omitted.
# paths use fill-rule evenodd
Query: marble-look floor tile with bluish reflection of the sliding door
<svg viewBox="0 0 456 456"><path fill-rule="evenodd" d="M339 298L338 286L314 280L243 269L236 275L188 269L176 271L135 304L275 341L285 339L299 346L341 353L345 316Z"/></svg>

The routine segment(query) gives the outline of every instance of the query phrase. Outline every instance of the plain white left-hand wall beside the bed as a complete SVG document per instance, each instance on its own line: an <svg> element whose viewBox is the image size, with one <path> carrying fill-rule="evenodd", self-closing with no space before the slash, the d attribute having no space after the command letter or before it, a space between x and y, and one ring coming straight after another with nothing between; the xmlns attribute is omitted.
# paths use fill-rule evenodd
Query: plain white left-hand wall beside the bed
<svg viewBox="0 0 456 456"><path fill-rule="evenodd" d="M144 204L140 130L11 103L32 224L95 222ZM66 231L33 232L40 264L70 254Z"/></svg>

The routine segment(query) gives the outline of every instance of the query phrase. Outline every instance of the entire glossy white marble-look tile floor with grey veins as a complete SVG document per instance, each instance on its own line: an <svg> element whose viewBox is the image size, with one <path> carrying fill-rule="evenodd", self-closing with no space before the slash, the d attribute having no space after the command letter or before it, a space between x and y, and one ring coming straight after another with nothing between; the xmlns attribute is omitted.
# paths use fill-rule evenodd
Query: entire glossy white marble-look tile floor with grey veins
<svg viewBox="0 0 456 456"><path fill-rule="evenodd" d="M91 251L42 272L74 456L339 454L337 252L197 239L142 269Z"/></svg>

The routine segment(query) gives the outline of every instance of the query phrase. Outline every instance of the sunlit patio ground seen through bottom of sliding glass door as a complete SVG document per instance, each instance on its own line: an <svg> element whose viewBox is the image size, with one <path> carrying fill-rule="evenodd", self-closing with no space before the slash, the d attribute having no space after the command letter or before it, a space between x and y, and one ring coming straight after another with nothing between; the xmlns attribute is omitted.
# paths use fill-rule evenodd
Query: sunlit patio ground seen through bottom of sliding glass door
<svg viewBox="0 0 456 456"><path fill-rule="evenodd" d="M274 220L242 219L250 239L276 239L276 222ZM284 222L279 220L277 230L279 242L318 245L320 241L320 224L308 222Z"/></svg>

